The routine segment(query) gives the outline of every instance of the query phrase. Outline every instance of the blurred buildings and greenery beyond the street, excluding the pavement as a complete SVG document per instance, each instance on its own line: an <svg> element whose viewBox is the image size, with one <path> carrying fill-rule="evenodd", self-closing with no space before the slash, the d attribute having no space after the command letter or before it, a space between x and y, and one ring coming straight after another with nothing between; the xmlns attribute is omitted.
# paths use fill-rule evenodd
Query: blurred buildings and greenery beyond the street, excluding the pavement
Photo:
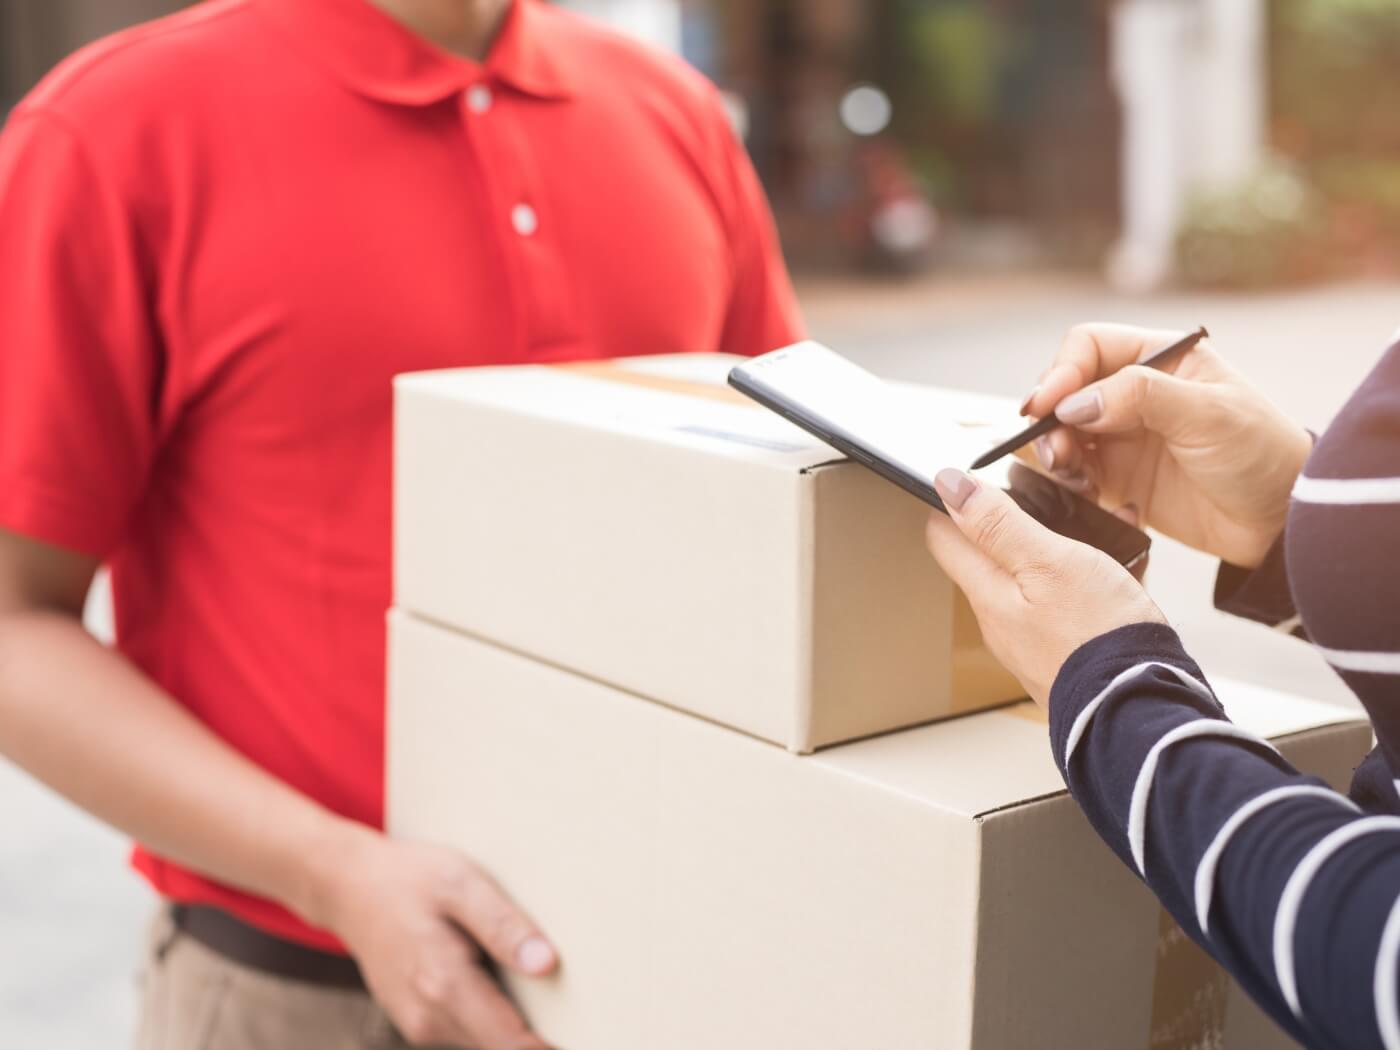
<svg viewBox="0 0 1400 1050"><path fill-rule="evenodd" d="M566 3L725 90L804 273L1260 288L1400 258L1392 0ZM0 0L0 111L181 6Z"/></svg>

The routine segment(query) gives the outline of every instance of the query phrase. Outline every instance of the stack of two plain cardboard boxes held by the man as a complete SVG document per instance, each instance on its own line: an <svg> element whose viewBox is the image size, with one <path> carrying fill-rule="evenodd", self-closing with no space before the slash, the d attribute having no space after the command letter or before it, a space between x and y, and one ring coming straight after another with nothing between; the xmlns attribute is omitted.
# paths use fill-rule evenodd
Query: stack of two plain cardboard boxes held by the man
<svg viewBox="0 0 1400 1050"><path fill-rule="evenodd" d="M732 402L728 364L398 388L389 825L550 932L560 973L511 983L543 1037L1285 1044L1064 794L925 510ZM1217 685L1334 783L1369 746L1347 713Z"/></svg>

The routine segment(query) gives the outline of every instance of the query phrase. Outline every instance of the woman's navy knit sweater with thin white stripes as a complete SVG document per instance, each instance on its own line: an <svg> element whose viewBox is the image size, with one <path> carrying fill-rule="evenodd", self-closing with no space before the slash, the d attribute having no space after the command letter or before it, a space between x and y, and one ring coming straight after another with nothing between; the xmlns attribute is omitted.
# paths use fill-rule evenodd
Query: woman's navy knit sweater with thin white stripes
<svg viewBox="0 0 1400 1050"><path fill-rule="evenodd" d="M1050 697L1056 759L1109 846L1308 1047L1400 1050L1400 343L1294 489L1254 573L1217 605L1310 641L1379 746L1350 797L1231 724L1169 627L1077 651Z"/></svg>

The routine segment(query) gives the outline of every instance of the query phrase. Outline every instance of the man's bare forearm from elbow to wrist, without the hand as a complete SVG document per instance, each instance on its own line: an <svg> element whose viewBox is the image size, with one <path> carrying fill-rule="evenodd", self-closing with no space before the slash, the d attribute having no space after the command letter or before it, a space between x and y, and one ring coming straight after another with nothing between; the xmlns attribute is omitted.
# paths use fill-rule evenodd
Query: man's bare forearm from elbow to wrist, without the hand
<svg viewBox="0 0 1400 1050"><path fill-rule="evenodd" d="M0 616L0 753L155 853L323 924L365 829L220 741L73 616Z"/></svg>

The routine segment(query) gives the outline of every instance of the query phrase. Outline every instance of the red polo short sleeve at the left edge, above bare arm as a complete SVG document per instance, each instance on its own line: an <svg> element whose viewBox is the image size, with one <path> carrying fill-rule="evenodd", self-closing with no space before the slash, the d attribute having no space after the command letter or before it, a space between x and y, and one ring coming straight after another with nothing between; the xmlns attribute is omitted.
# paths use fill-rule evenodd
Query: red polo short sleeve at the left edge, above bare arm
<svg viewBox="0 0 1400 1050"><path fill-rule="evenodd" d="M0 134L0 528L104 557L154 458L160 354L134 223L60 118Z"/></svg>

